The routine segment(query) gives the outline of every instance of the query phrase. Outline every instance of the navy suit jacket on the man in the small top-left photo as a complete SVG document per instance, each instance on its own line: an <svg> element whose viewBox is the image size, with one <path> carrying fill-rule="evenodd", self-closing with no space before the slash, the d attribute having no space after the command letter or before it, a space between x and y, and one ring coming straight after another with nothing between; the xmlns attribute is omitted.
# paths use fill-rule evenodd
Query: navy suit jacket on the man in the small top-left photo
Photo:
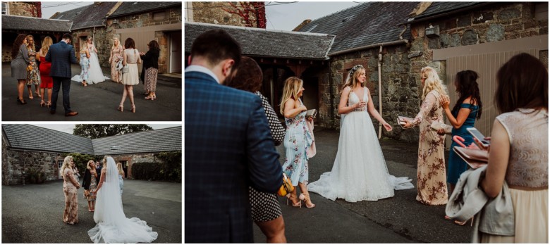
<svg viewBox="0 0 550 245"><path fill-rule="evenodd" d="M51 77L71 77L71 63L78 64L73 45L62 41L49 46L46 61L51 62Z"/></svg>

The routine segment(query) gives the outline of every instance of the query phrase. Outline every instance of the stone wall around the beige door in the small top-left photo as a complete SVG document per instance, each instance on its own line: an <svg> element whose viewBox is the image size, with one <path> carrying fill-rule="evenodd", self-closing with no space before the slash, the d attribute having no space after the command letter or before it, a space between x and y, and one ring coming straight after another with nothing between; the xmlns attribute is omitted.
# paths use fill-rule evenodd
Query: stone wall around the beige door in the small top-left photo
<svg viewBox="0 0 550 245"><path fill-rule="evenodd" d="M155 12L157 13L157 12ZM139 13L135 15L126 15L116 18L118 23L114 23L113 19L107 19L106 24L106 33L105 33L105 44L109 46L109 51L107 52L106 62L107 66L109 65L109 56L111 55L111 46L113 46L113 39L117 37L121 39L120 34L116 34L116 29L127 29L127 28L140 28L148 27L155 25L168 25L168 24L177 24L182 23L182 13L181 7L169 8L166 10L166 18L163 20L155 20L153 12L149 13ZM160 56L159 56L159 73L166 73L168 71L168 61L169 57L169 36L165 32L159 31L154 33L154 40L159 43ZM124 44L124 40L120 40L121 44ZM98 49L99 51L99 49ZM144 52L147 52L144 50ZM103 63L102 63L103 64ZM141 70L141 69L140 69Z"/></svg>

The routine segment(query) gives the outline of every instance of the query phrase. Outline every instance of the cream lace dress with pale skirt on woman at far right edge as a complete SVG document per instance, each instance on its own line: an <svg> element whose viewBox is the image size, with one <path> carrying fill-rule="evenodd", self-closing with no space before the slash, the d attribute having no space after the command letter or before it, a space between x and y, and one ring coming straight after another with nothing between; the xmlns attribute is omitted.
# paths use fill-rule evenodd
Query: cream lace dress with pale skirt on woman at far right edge
<svg viewBox="0 0 550 245"><path fill-rule="evenodd" d="M505 180L512 197L515 235L481 233L483 243L548 244L548 113L532 112L520 109L496 117L510 139Z"/></svg>

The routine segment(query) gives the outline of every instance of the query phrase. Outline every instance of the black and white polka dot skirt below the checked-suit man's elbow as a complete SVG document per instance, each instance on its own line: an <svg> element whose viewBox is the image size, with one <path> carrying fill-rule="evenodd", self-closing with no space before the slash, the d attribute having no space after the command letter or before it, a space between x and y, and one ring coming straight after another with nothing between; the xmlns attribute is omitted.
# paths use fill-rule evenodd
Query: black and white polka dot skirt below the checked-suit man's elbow
<svg viewBox="0 0 550 245"><path fill-rule="evenodd" d="M250 206L252 206L252 220L254 222L266 222L283 215L276 194L258 191L249 187L248 198L250 199Z"/></svg>

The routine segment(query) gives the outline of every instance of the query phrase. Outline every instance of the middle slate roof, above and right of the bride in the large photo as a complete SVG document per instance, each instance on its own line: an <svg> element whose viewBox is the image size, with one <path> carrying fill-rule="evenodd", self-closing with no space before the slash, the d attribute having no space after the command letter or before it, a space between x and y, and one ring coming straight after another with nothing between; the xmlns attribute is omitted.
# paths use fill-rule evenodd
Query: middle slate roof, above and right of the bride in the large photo
<svg viewBox="0 0 550 245"><path fill-rule="evenodd" d="M361 46L399 40L404 26L419 2L367 2L326 15L300 28L300 32L336 35L329 55ZM410 28L402 35L409 39Z"/></svg>

